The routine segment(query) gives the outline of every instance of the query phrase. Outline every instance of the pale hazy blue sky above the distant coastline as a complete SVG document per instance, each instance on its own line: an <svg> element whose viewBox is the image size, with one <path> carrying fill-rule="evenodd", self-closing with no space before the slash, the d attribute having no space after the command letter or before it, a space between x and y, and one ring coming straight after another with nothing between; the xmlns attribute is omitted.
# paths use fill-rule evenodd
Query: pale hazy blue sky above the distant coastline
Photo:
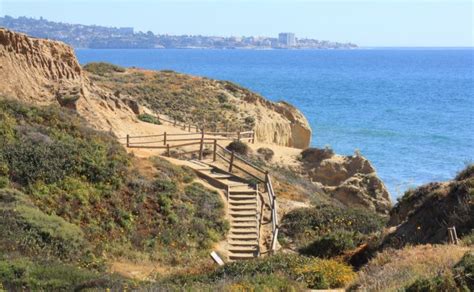
<svg viewBox="0 0 474 292"><path fill-rule="evenodd" d="M474 46L473 0L0 0L0 15L160 34L265 35L362 46Z"/></svg>

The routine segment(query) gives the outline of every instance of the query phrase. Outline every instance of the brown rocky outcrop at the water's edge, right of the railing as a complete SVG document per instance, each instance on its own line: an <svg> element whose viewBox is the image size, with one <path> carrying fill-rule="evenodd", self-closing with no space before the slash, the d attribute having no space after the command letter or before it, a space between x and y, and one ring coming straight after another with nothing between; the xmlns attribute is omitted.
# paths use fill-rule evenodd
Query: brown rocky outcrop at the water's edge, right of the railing
<svg viewBox="0 0 474 292"><path fill-rule="evenodd" d="M310 148L302 152L302 164L313 182L344 205L388 214L390 195L374 167L360 154L341 156L330 149Z"/></svg>

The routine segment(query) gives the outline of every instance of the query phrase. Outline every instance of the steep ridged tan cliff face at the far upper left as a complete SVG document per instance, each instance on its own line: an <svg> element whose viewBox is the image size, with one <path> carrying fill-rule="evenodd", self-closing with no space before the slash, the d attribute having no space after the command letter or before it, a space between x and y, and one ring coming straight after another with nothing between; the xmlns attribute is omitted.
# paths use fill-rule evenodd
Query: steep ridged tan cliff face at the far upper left
<svg viewBox="0 0 474 292"><path fill-rule="evenodd" d="M0 90L37 102L83 86L81 67L67 45L0 29Z"/></svg>

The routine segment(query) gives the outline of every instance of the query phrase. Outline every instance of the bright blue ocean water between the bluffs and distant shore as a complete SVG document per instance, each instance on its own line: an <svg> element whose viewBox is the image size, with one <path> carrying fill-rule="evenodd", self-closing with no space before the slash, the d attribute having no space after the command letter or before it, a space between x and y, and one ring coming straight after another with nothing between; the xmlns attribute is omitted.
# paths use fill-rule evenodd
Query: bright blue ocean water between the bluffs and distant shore
<svg viewBox="0 0 474 292"><path fill-rule="evenodd" d="M359 149L393 198L474 161L473 49L77 50L79 61L236 82L298 107L312 145Z"/></svg>

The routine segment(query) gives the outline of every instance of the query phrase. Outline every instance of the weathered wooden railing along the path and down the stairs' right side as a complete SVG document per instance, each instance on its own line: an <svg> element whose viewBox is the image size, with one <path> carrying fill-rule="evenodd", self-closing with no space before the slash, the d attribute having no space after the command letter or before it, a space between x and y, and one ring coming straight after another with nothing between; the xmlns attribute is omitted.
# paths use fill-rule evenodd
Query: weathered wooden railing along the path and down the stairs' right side
<svg viewBox="0 0 474 292"><path fill-rule="evenodd" d="M238 155L235 151L230 151L223 146L221 146L218 141L229 140L226 137L206 137L206 134L218 136L219 132L208 132L205 133L179 133L179 134L169 134L163 133L160 135L149 135L149 136L130 136L126 137L126 145L128 148L150 148L150 149L166 149L165 155L171 157L171 149L173 148L183 148L188 146L199 145L198 150L190 150L182 153L178 153L177 156L187 155L192 153L198 153L199 160L202 160L204 157L204 146L212 145L212 160L220 160L223 162L224 166L227 168L226 171L229 173L235 172L235 170L244 173L245 175L256 179L258 183L263 183L265 186L265 191L268 194L268 202L271 209L271 228L272 228L272 241L270 252L276 250L277 238L278 238L278 214L277 214L277 202L276 195L273 189L272 180L268 171L263 168L255 165L250 162L248 159ZM199 137L190 137L190 138L174 138L179 136L191 136L199 135ZM157 138L161 138L156 140ZM139 142L134 142L134 140L140 139ZM149 140L151 139L151 140ZM255 133L253 131L239 132L237 133L237 139L249 139L253 142L255 140ZM143 141L144 140L144 141ZM232 139L235 140L235 139ZM170 142L187 142L182 144L173 144L170 145ZM160 144L160 145L151 145L151 144ZM229 190L227 190L228 195ZM258 192L258 187L257 187ZM258 216L258 214L257 214ZM260 214L262 216L262 214ZM260 220L259 217L257 217ZM258 230L258 235L260 236L260 229Z"/></svg>

